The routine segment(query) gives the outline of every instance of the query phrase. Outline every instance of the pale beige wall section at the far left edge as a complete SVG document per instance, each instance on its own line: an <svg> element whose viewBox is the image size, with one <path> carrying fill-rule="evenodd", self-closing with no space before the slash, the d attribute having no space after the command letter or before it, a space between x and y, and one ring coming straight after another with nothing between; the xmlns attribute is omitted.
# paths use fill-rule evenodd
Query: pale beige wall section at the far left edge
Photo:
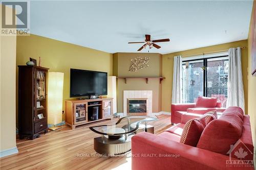
<svg viewBox="0 0 256 170"><path fill-rule="evenodd" d="M6 8L6 10L11 10ZM2 6L0 5L2 14ZM0 20L2 25L2 20ZM0 26L2 28L2 26ZM16 36L0 36L0 152L16 147Z"/></svg>

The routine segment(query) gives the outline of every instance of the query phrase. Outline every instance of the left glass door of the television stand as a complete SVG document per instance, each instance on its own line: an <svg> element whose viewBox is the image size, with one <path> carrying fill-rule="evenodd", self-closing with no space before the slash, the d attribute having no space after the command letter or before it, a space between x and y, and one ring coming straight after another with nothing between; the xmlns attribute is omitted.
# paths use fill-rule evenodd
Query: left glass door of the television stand
<svg viewBox="0 0 256 170"><path fill-rule="evenodd" d="M77 103L74 105L74 124L87 122L87 108L86 103Z"/></svg>

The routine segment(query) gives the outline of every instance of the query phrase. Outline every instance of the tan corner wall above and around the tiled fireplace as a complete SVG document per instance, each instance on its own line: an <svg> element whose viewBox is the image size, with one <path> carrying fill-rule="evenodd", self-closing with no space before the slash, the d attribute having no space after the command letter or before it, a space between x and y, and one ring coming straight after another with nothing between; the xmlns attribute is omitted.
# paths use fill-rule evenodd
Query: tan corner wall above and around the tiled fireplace
<svg viewBox="0 0 256 170"><path fill-rule="evenodd" d="M150 57L148 67L129 71L131 59ZM162 55L158 53L115 53L113 54L113 72L117 77L160 77L162 76ZM165 81L165 80L163 80ZM153 90L153 112L161 111L162 84L158 79L124 79L117 80L117 112L123 112L123 90Z"/></svg>

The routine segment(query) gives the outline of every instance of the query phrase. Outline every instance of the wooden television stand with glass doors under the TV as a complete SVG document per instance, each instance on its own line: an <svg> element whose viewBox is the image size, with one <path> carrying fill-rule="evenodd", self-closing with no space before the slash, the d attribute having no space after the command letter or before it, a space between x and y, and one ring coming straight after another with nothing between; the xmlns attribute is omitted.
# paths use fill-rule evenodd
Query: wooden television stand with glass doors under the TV
<svg viewBox="0 0 256 170"><path fill-rule="evenodd" d="M98 107L96 120L90 120L89 115L92 115L91 112L93 111L90 107ZM113 118L113 98L66 100L65 122L72 129L79 125L109 118Z"/></svg>

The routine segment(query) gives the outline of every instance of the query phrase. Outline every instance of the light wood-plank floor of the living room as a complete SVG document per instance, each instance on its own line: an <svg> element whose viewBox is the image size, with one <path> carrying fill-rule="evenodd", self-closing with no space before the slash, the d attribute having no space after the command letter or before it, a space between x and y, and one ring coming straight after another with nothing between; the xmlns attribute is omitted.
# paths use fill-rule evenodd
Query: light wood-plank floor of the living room
<svg viewBox="0 0 256 170"><path fill-rule="evenodd" d="M104 157L93 149L93 138L100 135L88 127L115 122L117 118L82 125L75 130L65 125L35 140L17 139L18 154L1 158L0 169L131 169L130 154ZM155 134L172 126L170 116L164 114L148 124L155 126Z"/></svg>

